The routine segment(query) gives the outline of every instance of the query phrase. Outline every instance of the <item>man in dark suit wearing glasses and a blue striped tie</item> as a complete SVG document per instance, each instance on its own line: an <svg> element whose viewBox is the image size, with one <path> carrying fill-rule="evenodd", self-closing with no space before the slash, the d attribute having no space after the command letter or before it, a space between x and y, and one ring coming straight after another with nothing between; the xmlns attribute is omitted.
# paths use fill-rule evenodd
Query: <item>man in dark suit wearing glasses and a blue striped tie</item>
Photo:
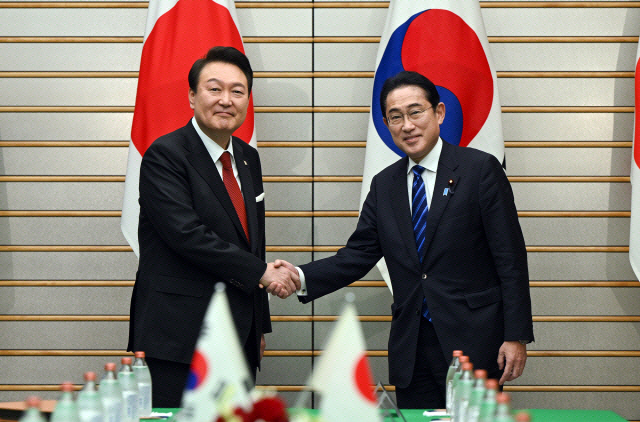
<svg viewBox="0 0 640 422"><path fill-rule="evenodd" d="M454 349L501 384L522 373L533 340L524 238L498 160L440 138L445 105L431 81L401 72L385 82L380 105L407 157L373 178L347 245L298 268L298 298L306 303L345 287L384 257L398 405L443 408Z"/></svg>

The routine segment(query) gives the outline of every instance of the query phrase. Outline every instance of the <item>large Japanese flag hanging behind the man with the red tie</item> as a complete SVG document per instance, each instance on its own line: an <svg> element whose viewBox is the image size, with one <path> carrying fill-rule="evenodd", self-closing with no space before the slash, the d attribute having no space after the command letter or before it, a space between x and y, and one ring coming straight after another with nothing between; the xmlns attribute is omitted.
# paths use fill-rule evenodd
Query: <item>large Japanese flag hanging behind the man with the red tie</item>
<svg viewBox="0 0 640 422"><path fill-rule="evenodd" d="M231 0L149 2L120 221L122 233L136 255L142 156L154 140L193 117L187 81L193 63L215 46L235 47L244 53L237 22ZM234 135L256 146L253 98L244 124Z"/></svg>

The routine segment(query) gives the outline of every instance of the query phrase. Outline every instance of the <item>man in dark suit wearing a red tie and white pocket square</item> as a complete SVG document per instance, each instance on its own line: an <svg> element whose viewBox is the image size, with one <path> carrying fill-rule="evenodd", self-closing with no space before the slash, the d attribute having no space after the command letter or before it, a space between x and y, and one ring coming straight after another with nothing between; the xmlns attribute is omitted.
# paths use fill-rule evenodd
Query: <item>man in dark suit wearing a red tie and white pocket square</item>
<svg viewBox="0 0 640 422"><path fill-rule="evenodd" d="M189 72L193 119L158 138L142 159L128 350L146 352L154 407L180 406L216 283L227 286L254 379L271 332L264 288L285 297L299 287L289 270L265 263L260 158L232 137L245 120L252 81L244 54L211 49Z"/></svg>

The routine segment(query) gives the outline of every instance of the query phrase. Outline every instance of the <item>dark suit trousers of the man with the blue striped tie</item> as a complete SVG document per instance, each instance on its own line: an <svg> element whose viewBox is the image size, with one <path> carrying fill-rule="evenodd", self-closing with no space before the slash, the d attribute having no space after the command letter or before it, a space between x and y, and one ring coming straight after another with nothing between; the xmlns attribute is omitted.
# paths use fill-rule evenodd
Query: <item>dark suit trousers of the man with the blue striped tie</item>
<svg viewBox="0 0 640 422"><path fill-rule="evenodd" d="M420 318L416 366L407 388L396 388L401 409L444 409L446 407L447 362L433 324Z"/></svg>

